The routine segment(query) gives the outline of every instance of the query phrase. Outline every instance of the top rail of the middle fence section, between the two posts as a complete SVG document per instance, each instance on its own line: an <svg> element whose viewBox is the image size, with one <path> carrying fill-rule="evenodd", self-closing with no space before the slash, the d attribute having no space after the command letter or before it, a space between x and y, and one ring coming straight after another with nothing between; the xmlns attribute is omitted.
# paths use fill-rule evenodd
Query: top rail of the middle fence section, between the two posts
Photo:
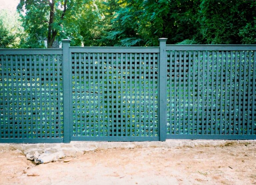
<svg viewBox="0 0 256 185"><path fill-rule="evenodd" d="M159 53L159 47L70 47L71 53Z"/></svg>

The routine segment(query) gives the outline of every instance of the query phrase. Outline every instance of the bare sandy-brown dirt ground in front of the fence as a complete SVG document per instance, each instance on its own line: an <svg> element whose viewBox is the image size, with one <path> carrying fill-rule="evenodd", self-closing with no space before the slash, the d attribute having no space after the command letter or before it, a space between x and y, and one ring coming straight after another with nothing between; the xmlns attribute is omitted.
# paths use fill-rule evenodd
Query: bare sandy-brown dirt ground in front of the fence
<svg viewBox="0 0 256 185"><path fill-rule="evenodd" d="M35 165L18 150L2 150L0 184L256 184L255 144L116 148L64 160Z"/></svg>

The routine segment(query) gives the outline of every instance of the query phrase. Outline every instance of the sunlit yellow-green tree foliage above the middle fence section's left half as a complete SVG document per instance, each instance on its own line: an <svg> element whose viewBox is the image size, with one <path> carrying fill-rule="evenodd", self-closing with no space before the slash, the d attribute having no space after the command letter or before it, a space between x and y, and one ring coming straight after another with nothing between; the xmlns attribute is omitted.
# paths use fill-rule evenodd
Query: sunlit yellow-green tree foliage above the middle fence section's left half
<svg viewBox="0 0 256 185"><path fill-rule="evenodd" d="M120 8L118 0L87 1L79 18L80 35L85 46L113 46L114 40L107 39L112 29L111 20Z"/></svg>

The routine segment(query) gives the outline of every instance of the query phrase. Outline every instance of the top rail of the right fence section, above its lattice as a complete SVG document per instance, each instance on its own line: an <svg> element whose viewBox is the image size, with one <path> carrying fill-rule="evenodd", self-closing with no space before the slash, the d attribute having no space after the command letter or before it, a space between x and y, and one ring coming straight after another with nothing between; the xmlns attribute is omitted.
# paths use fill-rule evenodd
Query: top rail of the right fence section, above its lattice
<svg viewBox="0 0 256 185"><path fill-rule="evenodd" d="M218 45L204 45L204 44L189 44L189 45L175 45L167 44L166 50L180 50L180 51L256 51L256 45L235 45L235 44L218 44Z"/></svg>

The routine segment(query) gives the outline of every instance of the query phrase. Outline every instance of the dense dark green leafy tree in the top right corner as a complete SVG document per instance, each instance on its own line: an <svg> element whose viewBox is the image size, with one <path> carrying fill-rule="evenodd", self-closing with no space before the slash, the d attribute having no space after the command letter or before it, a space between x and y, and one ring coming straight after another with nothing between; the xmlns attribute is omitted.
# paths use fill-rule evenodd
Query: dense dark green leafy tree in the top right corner
<svg viewBox="0 0 256 185"><path fill-rule="evenodd" d="M203 0L199 32L206 44L255 43L255 1Z"/></svg>

